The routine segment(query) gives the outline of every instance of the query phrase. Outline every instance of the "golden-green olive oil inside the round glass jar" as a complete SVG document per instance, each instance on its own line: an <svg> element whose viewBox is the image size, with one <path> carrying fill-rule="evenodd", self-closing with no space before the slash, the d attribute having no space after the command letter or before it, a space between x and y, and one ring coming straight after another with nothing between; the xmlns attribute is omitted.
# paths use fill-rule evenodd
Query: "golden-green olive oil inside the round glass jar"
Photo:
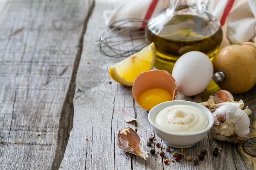
<svg viewBox="0 0 256 170"><path fill-rule="evenodd" d="M222 41L221 26L215 21L185 14L174 15L158 35L147 27L146 40L157 50L156 67L172 72L175 61L189 51L201 51L212 59Z"/></svg>

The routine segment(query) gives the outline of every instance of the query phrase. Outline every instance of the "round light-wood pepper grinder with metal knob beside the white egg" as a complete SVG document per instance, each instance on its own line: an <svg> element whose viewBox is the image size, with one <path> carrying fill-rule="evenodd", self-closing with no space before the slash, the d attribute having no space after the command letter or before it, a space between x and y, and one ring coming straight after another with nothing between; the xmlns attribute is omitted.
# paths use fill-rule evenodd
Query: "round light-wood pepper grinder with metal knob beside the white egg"
<svg viewBox="0 0 256 170"><path fill-rule="evenodd" d="M256 84L256 45L253 42L221 48L212 63L213 80L230 93L244 93Z"/></svg>

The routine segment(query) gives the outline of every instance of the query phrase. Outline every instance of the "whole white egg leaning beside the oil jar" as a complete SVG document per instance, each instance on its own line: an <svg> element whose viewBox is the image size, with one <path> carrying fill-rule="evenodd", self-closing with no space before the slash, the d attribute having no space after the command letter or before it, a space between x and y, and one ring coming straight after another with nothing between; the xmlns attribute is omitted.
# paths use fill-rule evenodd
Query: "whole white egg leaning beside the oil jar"
<svg viewBox="0 0 256 170"><path fill-rule="evenodd" d="M199 51L183 54L172 70L178 92L186 96L194 96L203 92L213 76L213 65L209 57Z"/></svg>

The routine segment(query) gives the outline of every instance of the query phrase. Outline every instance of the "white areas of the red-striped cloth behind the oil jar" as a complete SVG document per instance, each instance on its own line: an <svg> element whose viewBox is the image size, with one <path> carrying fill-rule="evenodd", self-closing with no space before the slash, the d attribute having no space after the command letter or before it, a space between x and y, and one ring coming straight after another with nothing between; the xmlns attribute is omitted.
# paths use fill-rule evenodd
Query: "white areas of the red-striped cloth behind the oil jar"
<svg viewBox="0 0 256 170"><path fill-rule="evenodd" d="M209 11L221 20L228 0L209 0ZM144 19L152 0L131 0L120 4L113 11L104 11L105 23L108 25L124 18ZM169 6L169 0L158 0L153 15ZM140 23L130 23L131 26ZM256 0L235 0L226 23L222 26L224 38L221 47L256 40Z"/></svg>

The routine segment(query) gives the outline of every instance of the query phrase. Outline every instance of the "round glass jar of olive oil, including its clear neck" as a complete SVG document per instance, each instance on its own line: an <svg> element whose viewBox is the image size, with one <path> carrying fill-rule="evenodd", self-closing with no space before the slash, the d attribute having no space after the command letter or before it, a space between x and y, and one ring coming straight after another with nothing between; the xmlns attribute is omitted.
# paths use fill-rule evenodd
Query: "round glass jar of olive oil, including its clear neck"
<svg viewBox="0 0 256 170"><path fill-rule="evenodd" d="M201 51L212 59L222 41L221 25L207 10L208 0L170 0L169 8L155 14L145 29L157 51L155 66L172 73L177 59Z"/></svg>

